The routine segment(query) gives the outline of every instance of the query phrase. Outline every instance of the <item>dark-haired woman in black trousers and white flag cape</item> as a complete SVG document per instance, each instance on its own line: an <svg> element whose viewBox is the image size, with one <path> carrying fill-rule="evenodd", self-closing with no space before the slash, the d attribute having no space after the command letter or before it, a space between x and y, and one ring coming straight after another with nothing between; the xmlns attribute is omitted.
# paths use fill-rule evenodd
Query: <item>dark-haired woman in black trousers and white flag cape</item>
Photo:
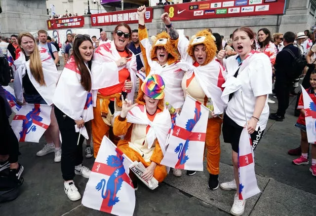
<svg viewBox="0 0 316 216"><path fill-rule="evenodd" d="M53 102L62 137L61 171L64 191L72 201L81 195L74 177L89 178L90 170L82 166L82 143L88 139L84 123L93 119L91 94L91 58L93 45L88 35L77 35L73 55L58 81ZM65 94L67 92L67 94Z"/></svg>

